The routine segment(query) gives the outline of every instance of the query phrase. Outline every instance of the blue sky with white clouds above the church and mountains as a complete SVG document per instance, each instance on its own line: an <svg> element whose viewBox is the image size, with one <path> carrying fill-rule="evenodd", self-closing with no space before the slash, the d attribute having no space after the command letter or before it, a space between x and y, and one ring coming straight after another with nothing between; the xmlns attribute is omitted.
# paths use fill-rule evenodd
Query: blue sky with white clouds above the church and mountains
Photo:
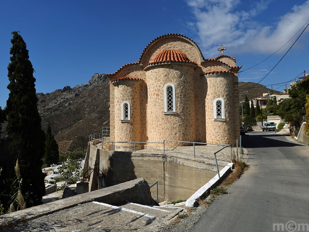
<svg viewBox="0 0 309 232"><path fill-rule="evenodd" d="M308 12L309 1L303 0L1 1L0 106L9 93L12 31L20 31L27 44L36 92L46 93L138 62L150 41L169 33L194 40L205 58L220 55L217 48L224 45L224 54L235 56L242 71L289 41L309 20ZM303 29L271 58L239 73L239 81L259 82ZM308 32L309 27L260 84L309 73ZM273 88L282 91L285 85Z"/></svg>

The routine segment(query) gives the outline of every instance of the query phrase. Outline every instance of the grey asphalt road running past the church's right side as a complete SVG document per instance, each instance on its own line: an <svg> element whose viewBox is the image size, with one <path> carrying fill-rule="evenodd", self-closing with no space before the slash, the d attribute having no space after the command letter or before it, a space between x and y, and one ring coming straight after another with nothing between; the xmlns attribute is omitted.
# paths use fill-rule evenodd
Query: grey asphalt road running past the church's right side
<svg viewBox="0 0 309 232"><path fill-rule="evenodd" d="M242 143L249 170L190 231L309 231L309 146L270 131L249 132Z"/></svg>

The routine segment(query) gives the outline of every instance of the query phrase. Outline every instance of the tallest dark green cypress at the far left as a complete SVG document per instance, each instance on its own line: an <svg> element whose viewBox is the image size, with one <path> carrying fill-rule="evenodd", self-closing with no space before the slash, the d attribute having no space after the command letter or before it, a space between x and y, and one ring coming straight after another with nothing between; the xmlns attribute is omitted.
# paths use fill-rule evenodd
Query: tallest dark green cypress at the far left
<svg viewBox="0 0 309 232"><path fill-rule="evenodd" d="M26 43L18 32L12 32L8 77L9 99L6 101L9 151L19 160L22 178L21 192L26 206L41 204L45 194L44 176L41 171L44 156L45 134L37 110L33 67L29 60Z"/></svg>

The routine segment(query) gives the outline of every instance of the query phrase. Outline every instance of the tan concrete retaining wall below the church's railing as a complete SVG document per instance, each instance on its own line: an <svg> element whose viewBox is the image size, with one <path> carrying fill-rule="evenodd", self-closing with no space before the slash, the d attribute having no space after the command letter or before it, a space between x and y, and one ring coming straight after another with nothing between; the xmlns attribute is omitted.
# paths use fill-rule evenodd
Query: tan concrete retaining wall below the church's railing
<svg viewBox="0 0 309 232"><path fill-rule="evenodd" d="M159 200L186 200L216 175L215 165L199 158L106 151L91 146L89 164L93 165L98 159L100 173L102 170L107 173L107 186L141 177L149 184L158 181ZM222 162L221 165L226 164ZM156 198L156 188L150 191L153 198Z"/></svg>

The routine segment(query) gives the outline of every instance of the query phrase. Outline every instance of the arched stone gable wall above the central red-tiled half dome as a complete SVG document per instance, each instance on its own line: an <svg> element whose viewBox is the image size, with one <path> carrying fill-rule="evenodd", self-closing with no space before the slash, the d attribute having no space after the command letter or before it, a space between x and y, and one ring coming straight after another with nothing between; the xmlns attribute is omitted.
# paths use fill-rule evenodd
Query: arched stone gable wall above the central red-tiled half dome
<svg viewBox="0 0 309 232"><path fill-rule="evenodd" d="M143 56L143 64L150 63L152 59L161 51L175 49L186 54L188 59L200 63L198 52L190 42L179 37L163 38L151 45Z"/></svg>

